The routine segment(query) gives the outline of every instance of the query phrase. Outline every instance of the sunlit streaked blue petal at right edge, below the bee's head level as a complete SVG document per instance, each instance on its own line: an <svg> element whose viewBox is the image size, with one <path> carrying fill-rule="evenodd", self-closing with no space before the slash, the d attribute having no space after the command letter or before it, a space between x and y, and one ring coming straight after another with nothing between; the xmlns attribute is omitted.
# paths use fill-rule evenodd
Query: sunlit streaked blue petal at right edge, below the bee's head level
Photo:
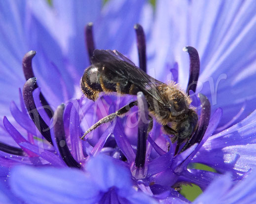
<svg viewBox="0 0 256 204"><path fill-rule="evenodd" d="M210 137L193 158L193 162L202 162L220 172L232 171L238 174L254 168L256 166L256 158L253 156L256 154L255 118L256 111L241 122Z"/></svg>

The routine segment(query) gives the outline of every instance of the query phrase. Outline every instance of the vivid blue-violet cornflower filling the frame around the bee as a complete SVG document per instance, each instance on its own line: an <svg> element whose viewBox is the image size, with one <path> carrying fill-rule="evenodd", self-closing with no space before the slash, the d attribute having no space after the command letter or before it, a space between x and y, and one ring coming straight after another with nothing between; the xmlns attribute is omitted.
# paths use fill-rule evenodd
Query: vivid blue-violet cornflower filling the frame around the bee
<svg viewBox="0 0 256 204"><path fill-rule="evenodd" d="M255 10L254 0L0 0L0 202L186 204L180 187L195 184L203 193L194 204L256 203ZM82 96L89 22L97 49L118 50L137 66L139 23L147 74L184 90L190 61L183 47L196 48L201 95L191 97L204 130L199 142L176 155L176 144L154 123L145 166L138 168L137 137L145 126L136 122L137 113L147 113L144 95L125 117L79 139L136 98ZM29 51L37 52L28 54L37 79L26 80ZM48 142L26 110L31 101L50 127Z"/></svg>

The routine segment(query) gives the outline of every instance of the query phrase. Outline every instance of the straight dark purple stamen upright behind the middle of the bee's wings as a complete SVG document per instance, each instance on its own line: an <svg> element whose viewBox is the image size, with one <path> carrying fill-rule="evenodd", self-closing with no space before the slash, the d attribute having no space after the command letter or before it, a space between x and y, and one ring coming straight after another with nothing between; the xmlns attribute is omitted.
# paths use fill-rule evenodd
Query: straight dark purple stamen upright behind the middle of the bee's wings
<svg viewBox="0 0 256 204"><path fill-rule="evenodd" d="M146 38L145 33L140 24L135 24L134 29L137 36L137 47L139 53L140 68L146 72Z"/></svg>

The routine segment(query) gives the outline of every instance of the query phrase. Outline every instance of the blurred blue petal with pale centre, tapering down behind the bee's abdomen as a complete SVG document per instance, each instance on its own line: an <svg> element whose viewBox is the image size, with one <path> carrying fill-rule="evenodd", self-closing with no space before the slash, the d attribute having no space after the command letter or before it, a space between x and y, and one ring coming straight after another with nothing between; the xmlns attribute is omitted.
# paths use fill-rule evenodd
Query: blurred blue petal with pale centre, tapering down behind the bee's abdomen
<svg viewBox="0 0 256 204"><path fill-rule="evenodd" d="M88 55L85 48L84 27L100 16L102 0L54 0L53 8L47 1L33 2L32 10L38 21L51 33L69 59L73 79L79 78L86 66ZM47 19L45 19L47 18Z"/></svg>

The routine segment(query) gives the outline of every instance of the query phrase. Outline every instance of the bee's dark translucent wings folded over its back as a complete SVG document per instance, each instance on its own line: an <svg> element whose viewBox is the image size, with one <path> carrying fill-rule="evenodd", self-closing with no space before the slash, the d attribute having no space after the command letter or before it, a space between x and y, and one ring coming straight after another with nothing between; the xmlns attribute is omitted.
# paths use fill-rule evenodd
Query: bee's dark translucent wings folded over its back
<svg viewBox="0 0 256 204"><path fill-rule="evenodd" d="M147 94L162 104L166 104L162 100L160 91L156 88L163 84L162 82L147 75L139 67L118 51L114 50L94 50L91 58L92 64L101 64L114 72L118 76L116 82L128 81L143 89Z"/></svg>

